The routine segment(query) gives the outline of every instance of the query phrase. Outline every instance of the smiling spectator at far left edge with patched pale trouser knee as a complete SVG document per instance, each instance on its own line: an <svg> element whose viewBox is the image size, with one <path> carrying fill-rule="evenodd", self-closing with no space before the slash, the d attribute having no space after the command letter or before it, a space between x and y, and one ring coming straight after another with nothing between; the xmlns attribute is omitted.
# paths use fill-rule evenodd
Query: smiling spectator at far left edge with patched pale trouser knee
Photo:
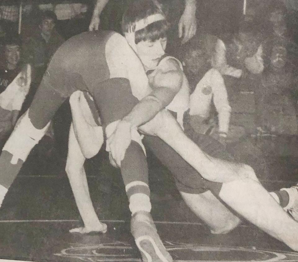
<svg viewBox="0 0 298 262"><path fill-rule="evenodd" d="M5 142L16 124L19 111L29 91L31 68L20 69L20 39L7 36L4 47L6 65L0 70L0 143Z"/></svg>

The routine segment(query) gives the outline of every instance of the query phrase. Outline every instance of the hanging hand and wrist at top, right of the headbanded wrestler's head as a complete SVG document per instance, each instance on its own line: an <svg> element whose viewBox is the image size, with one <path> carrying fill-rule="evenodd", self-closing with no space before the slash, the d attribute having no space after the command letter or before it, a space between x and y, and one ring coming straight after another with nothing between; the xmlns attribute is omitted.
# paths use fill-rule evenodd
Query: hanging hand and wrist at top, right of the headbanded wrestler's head
<svg viewBox="0 0 298 262"><path fill-rule="evenodd" d="M179 38L182 44L196 34L196 0L185 0L185 7L178 24Z"/></svg>

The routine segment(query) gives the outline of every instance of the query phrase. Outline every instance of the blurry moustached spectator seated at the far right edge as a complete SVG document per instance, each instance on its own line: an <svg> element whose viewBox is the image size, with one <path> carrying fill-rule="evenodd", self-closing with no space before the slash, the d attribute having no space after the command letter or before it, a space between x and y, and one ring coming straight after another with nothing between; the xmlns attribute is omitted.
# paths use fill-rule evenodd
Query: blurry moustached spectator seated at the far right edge
<svg viewBox="0 0 298 262"><path fill-rule="evenodd" d="M293 54L282 38L275 39L268 48L269 65L262 76L259 92L261 128L270 133L297 134L298 78L289 59Z"/></svg>

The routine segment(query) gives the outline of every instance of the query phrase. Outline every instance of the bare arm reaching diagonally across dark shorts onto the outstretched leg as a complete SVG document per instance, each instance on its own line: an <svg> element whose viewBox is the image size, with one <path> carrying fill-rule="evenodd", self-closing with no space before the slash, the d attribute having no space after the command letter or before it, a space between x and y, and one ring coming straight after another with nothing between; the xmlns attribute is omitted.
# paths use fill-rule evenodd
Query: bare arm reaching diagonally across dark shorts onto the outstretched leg
<svg viewBox="0 0 298 262"><path fill-rule="evenodd" d="M177 121L167 110L160 111L150 122L142 125L139 130L160 137L192 165L203 178L209 181L223 183L246 177L257 180L250 166L232 163L205 154L196 143L183 133Z"/></svg>

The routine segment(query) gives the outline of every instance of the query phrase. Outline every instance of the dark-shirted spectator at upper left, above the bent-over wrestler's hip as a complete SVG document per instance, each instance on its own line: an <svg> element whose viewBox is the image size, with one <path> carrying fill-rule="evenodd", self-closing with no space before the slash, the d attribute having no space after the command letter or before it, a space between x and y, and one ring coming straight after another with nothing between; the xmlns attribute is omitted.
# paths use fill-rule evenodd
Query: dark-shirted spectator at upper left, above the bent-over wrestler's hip
<svg viewBox="0 0 298 262"><path fill-rule="evenodd" d="M37 35L26 39L23 46L23 59L32 66L35 83L39 84L51 56L64 42L55 30L56 15L52 11L45 11L40 15Z"/></svg>

